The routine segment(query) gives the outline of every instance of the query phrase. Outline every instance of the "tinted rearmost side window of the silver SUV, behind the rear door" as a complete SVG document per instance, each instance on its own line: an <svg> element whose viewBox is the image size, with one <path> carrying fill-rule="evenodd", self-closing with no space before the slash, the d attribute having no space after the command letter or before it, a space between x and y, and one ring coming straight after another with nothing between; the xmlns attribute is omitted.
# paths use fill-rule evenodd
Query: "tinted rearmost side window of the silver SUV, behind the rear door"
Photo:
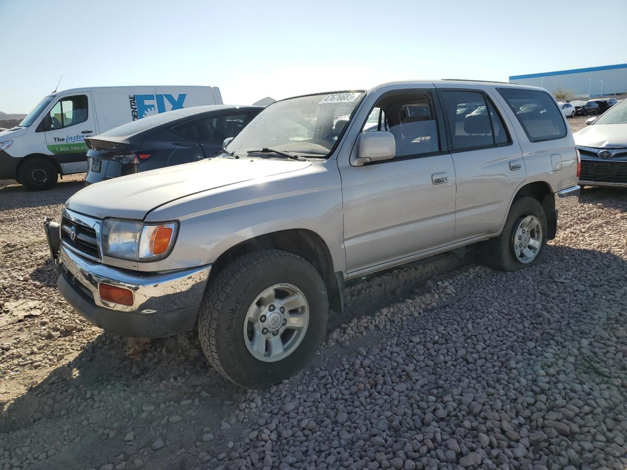
<svg viewBox="0 0 627 470"><path fill-rule="evenodd" d="M544 91L498 88L531 142L565 137L566 123L553 98Z"/></svg>

